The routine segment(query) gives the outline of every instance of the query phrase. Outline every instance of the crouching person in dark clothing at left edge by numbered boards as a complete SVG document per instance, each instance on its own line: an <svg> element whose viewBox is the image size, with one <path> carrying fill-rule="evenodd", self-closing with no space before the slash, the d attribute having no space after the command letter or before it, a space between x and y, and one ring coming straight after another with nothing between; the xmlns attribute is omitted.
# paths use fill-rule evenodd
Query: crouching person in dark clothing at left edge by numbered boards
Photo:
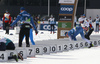
<svg viewBox="0 0 100 64"><path fill-rule="evenodd" d="M0 51L5 51L5 50L15 50L15 45L14 43L8 39L8 38L2 38L0 39ZM18 58L23 60L23 57L18 53L17 55L12 55L9 56L8 59L15 59L16 62L18 62Z"/></svg>

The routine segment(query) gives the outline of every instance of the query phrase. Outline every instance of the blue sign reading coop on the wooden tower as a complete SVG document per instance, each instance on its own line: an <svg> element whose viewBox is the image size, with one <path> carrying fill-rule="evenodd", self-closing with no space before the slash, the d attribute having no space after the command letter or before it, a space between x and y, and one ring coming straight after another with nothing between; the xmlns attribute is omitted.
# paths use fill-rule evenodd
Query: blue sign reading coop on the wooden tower
<svg viewBox="0 0 100 64"><path fill-rule="evenodd" d="M74 5L61 5L60 14L73 14Z"/></svg>

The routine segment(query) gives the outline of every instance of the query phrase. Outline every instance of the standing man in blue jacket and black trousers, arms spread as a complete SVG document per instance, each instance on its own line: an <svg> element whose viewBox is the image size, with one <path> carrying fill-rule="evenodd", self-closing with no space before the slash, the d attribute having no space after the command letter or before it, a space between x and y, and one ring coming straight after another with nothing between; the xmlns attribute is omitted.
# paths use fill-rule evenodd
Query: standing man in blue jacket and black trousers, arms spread
<svg viewBox="0 0 100 64"><path fill-rule="evenodd" d="M29 44L29 35L30 35L30 29L34 27L35 33L38 34L38 31L34 25L33 18L31 15L25 11L24 7L20 8L20 14L17 16L16 20L11 24L13 26L20 20L20 33L19 33L19 47L22 47L22 40L24 35L26 36L26 47L30 47Z"/></svg>

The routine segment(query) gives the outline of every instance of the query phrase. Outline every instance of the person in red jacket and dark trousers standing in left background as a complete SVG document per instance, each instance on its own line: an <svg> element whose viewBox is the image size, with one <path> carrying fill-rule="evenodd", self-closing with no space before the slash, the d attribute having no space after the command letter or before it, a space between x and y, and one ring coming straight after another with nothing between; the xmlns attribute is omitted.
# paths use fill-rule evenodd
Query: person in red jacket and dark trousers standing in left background
<svg viewBox="0 0 100 64"><path fill-rule="evenodd" d="M11 23L11 16L10 16L10 13L8 11L6 11L6 13L4 13L3 23L4 23L4 27L6 29L5 34L9 34L9 25Z"/></svg>

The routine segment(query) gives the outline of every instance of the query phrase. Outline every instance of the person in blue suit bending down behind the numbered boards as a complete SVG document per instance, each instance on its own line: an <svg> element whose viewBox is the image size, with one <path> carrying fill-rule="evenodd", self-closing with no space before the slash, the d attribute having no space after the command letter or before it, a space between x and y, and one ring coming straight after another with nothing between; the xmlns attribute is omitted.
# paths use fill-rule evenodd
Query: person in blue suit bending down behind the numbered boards
<svg viewBox="0 0 100 64"><path fill-rule="evenodd" d="M77 36L78 34L81 35L81 37L82 37L83 40L85 40L86 42L88 42L88 43L90 44L89 48L91 48L91 47L92 47L92 43L91 43L88 39L86 39L86 38L84 37L83 28L82 28L81 26L79 26L79 27L74 27L74 28L71 29L69 32L65 32L65 36L69 37L70 40L74 40L74 41L77 40L77 39L76 39L76 36Z"/></svg>

